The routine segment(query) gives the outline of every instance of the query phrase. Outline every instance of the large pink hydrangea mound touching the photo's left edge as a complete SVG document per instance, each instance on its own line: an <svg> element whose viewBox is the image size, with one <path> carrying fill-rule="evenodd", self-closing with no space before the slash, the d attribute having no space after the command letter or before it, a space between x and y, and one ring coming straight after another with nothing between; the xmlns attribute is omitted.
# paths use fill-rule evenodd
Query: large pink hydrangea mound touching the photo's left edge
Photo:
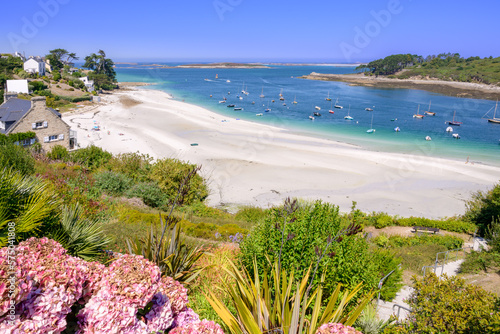
<svg viewBox="0 0 500 334"><path fill-rule="evenodd" d="M7 262L7 248L0 249L0 263ZM92 294L95 272L101 264L66 254L57 242L31 238L16 247L16 290L9 298L6 290L7 271L0 265L0 332L59 333L66 328L71 306L82 296ZM95 272L94 272L95 271ZM15 302L15 319L7 312L11 299Z"/></svg>

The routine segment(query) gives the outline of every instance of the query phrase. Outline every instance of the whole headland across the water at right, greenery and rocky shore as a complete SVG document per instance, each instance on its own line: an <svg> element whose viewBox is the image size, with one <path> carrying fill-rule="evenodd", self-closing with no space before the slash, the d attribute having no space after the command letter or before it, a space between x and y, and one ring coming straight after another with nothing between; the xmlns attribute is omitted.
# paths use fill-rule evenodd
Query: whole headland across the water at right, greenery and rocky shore
<svg viewBox="0 0 500 334"><path fill-rule="evenodd" d="M392 55L356 68L361 73L312 72L302 79L342 81L352 86L421 89L448 96L497 100L500 98L500 57L461 58L440 54Z"/></svg>

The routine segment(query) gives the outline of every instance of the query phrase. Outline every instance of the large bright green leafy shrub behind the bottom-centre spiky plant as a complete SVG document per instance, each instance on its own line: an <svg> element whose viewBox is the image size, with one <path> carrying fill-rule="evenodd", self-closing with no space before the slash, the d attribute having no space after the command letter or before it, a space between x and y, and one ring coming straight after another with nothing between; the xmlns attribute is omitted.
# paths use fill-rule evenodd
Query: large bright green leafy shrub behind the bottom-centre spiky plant
<svg viewBox="0 0 500 334"><path fill-rule="evenodd" d="M284 221L283 209L272 209L240 244L241 261L251 273L254 258L259 270L263 271L268 265L266 257L269 257L270 261L279 257ZM323 249L329 237L334 237L343 227L338 207L317 201L312 205L300 207L287 216L286 221L289 223L284 226L284 237L287 241L282 249L282 267L288 271L294 269L297 277L301 277L311 263L318 260L317 250ZM342 283L350 289L363 282L366 292L375 288L382 278L368 243L359 236L341 238L331 244L328 253L331 257L323 257L318 268L318 272L326 270L326 296L333 292L337 283ZM317 283L319 282L316 280L314 284Z"/></svg>

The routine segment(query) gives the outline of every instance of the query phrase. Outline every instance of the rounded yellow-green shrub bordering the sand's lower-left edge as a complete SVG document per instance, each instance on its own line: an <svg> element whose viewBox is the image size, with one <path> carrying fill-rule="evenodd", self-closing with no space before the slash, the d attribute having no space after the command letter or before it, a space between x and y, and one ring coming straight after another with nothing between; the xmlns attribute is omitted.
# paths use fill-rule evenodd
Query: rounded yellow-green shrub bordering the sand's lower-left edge
<svg viewBox="0 0 500 334"><path fill-rule="evenodd" d="M158 160L151 168L150 178L166 192L170 200L177 196L178 189L186 175L195 168L195 165L177 159ZM203 201L208 196L205 180L198 174L190 178L187 185L188 193L179 204L191 204L194 201Z"/></svg>

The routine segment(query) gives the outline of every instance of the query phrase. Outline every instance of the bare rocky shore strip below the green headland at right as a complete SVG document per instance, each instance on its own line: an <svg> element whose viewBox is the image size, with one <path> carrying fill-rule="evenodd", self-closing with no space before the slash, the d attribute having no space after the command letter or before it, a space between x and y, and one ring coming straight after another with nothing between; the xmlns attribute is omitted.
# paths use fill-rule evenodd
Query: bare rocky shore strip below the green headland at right
<svg viewBox="0 0 500 334"><path fill-rule="evenodd" d="M498 100L500 87L470 82L442 81L437 79L390 79L386 77L364 76L363 74L323 74L312 72L300 79L341 81L350 86L376 88L420 89L454 97Z"/></svg>

